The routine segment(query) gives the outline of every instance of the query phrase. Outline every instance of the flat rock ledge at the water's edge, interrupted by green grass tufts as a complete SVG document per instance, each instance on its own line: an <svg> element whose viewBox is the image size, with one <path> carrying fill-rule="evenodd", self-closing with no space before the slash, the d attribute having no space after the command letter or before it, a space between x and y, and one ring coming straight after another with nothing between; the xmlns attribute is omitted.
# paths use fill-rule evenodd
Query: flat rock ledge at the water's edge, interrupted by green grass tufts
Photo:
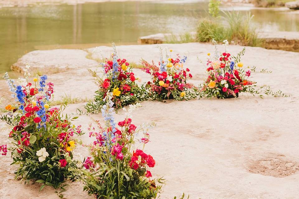
<svg viewBox="0 0 299 199"><path fill-rule="evenodd" d="M195 39L196 32L190 32ZM287 51L299 51L299 32L263 32L259 33L259 38L264 39L266 49L277 49ZM158 33L154 35L143 36L138 39L139 44L163 44L169 40L181 41L179 34Z"/></svg>

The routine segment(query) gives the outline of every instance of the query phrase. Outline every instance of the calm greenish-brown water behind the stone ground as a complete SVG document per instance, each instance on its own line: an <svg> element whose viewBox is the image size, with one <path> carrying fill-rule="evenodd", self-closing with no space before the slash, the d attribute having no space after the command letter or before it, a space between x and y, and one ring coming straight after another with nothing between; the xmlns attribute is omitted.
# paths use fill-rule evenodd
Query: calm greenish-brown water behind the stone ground
<svg viewBox="0 0 299 199"><path fill-rule="evenodd" d="M207 2L104 2L0 9L0 74L36 49L137 44L140 36L195 30ZM186 2L186 1L185 1ZM249 11L242 11L244 14ZM261 30L299 31L299 15L253 10Z"/></svg>

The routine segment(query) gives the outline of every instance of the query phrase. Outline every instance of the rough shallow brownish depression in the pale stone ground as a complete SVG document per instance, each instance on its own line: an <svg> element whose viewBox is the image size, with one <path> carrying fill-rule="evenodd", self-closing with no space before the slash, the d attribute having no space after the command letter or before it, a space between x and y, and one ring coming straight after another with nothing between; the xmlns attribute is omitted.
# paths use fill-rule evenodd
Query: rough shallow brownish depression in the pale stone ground
<svg viewBox="0 0 299 199"><path fill-rule="evenodd" d="M287 160L284 155L272 155L261 160L251 161L247 169L253 174L283 178L297 172L299 163Z"/></svg>

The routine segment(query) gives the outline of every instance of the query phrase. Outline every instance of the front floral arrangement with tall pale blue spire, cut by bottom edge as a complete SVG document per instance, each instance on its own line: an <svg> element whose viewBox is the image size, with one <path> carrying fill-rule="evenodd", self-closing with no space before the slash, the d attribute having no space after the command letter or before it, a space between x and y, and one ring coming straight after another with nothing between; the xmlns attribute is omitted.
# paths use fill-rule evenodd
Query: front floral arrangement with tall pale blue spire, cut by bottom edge
<svg viewBox="0 0 299 199"><path fill-rule="evenodd" d="M143 149L149 142L149 127L153 124L136 127L130 118L130 113L139 104L130 105L124 121L118 122L113 118L113 93L105 96L105 105L102 107L102 116L105 127L98 123L98 132L90 128L90 137L95 137L93 144L89 145L90 157L83 165L85 167L85 187L89 195L97 199L102 198L156 198L161 190L161 179L151 179L152 174L148 168L155 166L155 160ZM125 109L125 108L123 108ZM135 136L143 132L144 137L139 139L141 149L134 149Z"/></svg>

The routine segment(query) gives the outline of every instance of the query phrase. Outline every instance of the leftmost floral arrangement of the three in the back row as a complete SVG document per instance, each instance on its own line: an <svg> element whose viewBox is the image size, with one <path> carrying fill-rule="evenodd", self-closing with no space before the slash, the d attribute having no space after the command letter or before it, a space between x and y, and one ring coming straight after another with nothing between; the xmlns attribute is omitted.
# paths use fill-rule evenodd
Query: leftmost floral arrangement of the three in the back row
<svg viewBox="0 0 299 199"><path fill-rule="evenodd" d="M134 104L143 100L142 89L135 83L139 78L135 77L130 64L126 59L117 56L116 46L113 43L112 60L101 63L104 69L104 77L100 77L96 72L90 71L95 77L95 82L99 89L95 92L94 102L86 104L88 112L97 113L105 104L106 93L112 91L114 107L120 109L128 104Z"/></svg>

